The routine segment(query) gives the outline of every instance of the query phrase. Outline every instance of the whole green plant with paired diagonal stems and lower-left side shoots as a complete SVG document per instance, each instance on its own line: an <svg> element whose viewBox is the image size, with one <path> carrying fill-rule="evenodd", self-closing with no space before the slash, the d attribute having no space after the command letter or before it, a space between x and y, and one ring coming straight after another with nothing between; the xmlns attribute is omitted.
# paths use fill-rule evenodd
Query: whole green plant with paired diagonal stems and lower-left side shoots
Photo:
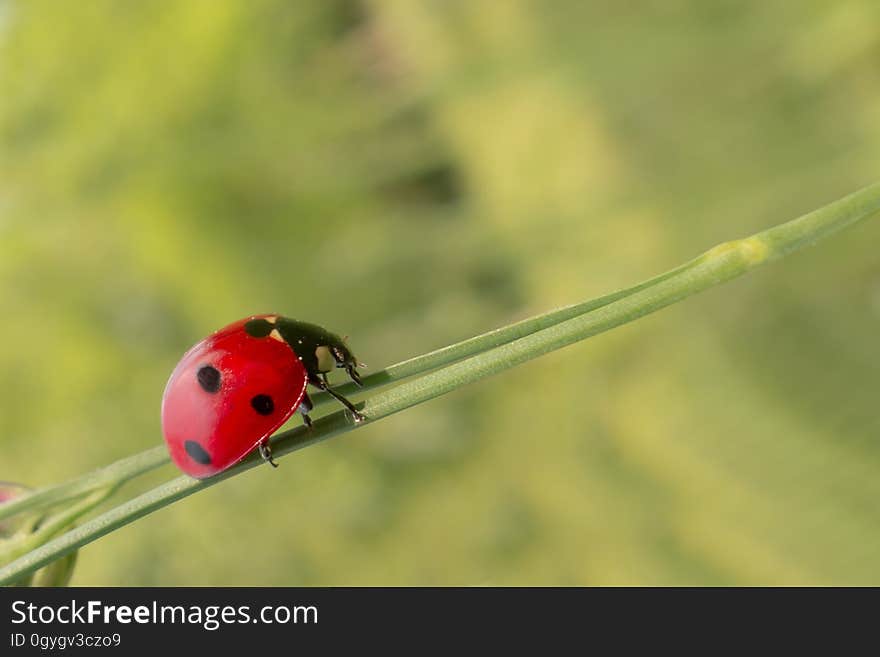
<svg viewBox="0 0 880 657"><path fill-rule="evenodd" d="M810 246L874 216L878 211L880 183L757 235L719 244L681 267L626 290L550 311L392 365L365 378L363 388L369 390L384 385L401 378L405 372L415 375L434 367L447 366L370 397L359 409L357 419L339 411L314 424L310 423L308 428L303 426L275 435L272 440L273 454L280 457L351 429L361 428L365 426L364 421L384 419L489 375L639 319L741 276L764 263ZM279 324L282 320L279 319ZM283 331L283 327L280 330ZM459 360L468 354L473 355ZM316 403L326 401L329 396L325 391L316 397ZM69 578L72 564L68 567L64 563L75 557L77 548L262 464L262 458L252 453L240 464L206 480L196 480L186 475L177 477L47 542L47 539L68 529L71 523L102 502L115 488L149 472L164 461L167 461L167 457L161 448L153 448L77 480L49 486L29 496L21 496L15 502L0 505L0 520L4 520L47 504L61 504L59 512L48 515L43 521L45 527L31 535L0 543L0 563L6 564L0 568L0 584L18 582L38 568L43 568L41 572L60 570L62 576ZM82 501L70 503L85 491L93 492L88 493Z"/></svg>

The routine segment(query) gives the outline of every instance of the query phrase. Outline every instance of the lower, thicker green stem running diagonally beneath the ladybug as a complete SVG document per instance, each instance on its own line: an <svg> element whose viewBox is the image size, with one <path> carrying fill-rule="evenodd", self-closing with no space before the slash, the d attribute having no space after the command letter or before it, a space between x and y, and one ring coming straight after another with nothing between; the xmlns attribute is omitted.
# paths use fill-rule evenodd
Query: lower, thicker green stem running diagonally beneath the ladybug
<svg viewBox="0 0 880 657"><path fill-rule="evenodd" d="M364 424L375 422L549 351L631 322L688 296L740 276L762 264L809 246L875 214L878 210L880 210L880 183L866 187L824 208L752 237L720 244L667 274L630 288L628 293L616 299L591 307L590 311L581 310L581 314L575 314L570 319L565 319L499 346L490 346L482 353L466 360L402 383L387 392L374 395L363 405L363 413L367 417L367 422ZM605 297L605 299L607 298ZM591 303L595 302L586 302L583 306L589 306ZM574 308L574 306L570 306L570 308ZM508 327L508 329L510 328ZM479 336L475 340L484 339L487 335L492 334ZM487 339L485 344L490 342L491 339ZM429 356L431 354L422 358ZM405 363L401 366L405 366ZM276 456L283 456L307 445L350 431L355 426L362 425L354 425L343 412L334 413L317 420L311 431L300 427L279 434L273 440L273 451ZM177 477L110 509L6 565L0 569L0 584L14 581L104 534L198 490L236 476L254 467L258 462L258 459L252 456L221 475L208 480L197 481L189 477Z"/></svg>

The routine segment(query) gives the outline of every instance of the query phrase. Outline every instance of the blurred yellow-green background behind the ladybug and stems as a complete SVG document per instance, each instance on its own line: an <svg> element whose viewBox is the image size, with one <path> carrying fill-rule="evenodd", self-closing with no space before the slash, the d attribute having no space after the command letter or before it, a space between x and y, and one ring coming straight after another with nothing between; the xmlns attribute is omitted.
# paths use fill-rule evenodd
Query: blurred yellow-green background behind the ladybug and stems
<svg viewBox="0 0 880 657"><path fill-rule="evenodd" d="M378 369L873 182L878 19L0 0L0 479L160 443L175 362L239 317ZM88 546L73 583L880 584L878 243L257 468Z"/></svg>

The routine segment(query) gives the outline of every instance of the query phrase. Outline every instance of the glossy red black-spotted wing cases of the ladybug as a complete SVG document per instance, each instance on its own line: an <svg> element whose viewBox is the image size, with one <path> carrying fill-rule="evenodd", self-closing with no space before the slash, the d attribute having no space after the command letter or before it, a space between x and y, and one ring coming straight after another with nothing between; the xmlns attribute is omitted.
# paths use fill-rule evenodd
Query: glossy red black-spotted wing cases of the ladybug
<svg viewBox="0 0 880 657"><path fill-rule="evenodd" d="M162 432L171 458L199 479L247 456L302 402L306 369L278 332L244 330L254 315L220 329L187 351L165 386Z"/></svg>

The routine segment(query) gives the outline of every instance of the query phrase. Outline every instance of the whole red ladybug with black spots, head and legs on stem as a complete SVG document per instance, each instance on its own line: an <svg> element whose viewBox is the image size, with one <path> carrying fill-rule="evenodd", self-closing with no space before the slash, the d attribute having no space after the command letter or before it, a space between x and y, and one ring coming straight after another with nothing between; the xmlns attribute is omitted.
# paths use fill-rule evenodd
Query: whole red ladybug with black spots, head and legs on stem
<svg viewBox="0 0 880 657"><path fill-rule="evenodd" d="M345 339L281 315L253 315L187 351L162 396L162 433L171 458L202 479L223 472L255 447L272 466L269 436L297 409L311 427L308 384L354 405L330 388L327 372L344 368L361 385Z"/></svg>

